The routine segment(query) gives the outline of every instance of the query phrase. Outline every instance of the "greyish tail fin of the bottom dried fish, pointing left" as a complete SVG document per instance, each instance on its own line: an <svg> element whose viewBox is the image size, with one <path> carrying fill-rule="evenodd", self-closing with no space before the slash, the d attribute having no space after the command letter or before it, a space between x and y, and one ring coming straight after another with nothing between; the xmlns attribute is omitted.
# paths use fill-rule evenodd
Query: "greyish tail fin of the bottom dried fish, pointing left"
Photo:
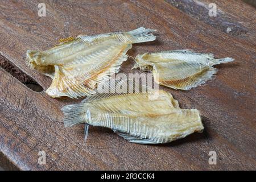
<svg viewBox="0 0 256 182"><path fill-rule="evenodd" d="M85 123L88 120L88 110L86 104L72 104L62 107L64 113L64 126L71 127L80 123Z"/></svg>

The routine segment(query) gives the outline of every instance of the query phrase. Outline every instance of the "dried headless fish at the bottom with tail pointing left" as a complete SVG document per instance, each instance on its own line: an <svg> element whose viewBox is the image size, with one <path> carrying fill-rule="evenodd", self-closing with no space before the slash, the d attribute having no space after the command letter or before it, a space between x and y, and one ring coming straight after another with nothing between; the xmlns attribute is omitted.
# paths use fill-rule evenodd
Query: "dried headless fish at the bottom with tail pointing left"
<svg viewBox="0 0 256 182"><path fill-rule="evenodd" d="M157 94L158 97L153 98ZM180 109L170 93L95 94L63 107L64 126L108 127L134 143L168 143L203 131L199 111Z"/></svg>

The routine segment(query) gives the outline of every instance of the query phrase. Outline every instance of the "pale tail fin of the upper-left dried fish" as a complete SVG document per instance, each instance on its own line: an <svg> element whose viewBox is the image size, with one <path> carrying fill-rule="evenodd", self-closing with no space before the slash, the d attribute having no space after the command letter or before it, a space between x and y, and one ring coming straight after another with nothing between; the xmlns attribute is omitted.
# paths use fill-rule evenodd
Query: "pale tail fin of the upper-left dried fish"
<svg viewBox="0 0 256 182"><path fill-rule="evenodd" d="M155 40L156 36L154 36L151 32L155 32L156 30L152 30L150 28L137 28L135 30L127 32L131 36L131 41L133 43L142 43L142 42L150 42Z"/></svg>

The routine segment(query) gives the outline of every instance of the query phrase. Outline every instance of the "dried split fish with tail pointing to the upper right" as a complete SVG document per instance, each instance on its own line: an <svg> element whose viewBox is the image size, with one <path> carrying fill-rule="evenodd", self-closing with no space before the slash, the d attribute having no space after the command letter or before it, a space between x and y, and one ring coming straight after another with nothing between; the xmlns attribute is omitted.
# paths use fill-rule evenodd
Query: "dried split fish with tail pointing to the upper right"
<svg viewBox="0 0 256 182"><path fill-rule="evenodd" d="M129 32L63 39L47 51L28 50L26 63L53 79L46 90L49 96L88 96L104 78L119 71L131 44L155 40L152 31L141 27Z"/></svg>

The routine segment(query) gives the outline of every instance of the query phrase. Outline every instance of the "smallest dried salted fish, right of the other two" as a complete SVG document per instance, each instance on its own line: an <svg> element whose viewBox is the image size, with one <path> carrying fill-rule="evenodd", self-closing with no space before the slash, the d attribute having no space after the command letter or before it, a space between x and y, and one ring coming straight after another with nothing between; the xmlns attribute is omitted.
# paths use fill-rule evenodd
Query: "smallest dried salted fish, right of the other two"
<svg viewBox="0 0 256 182"><path fill-rule="evenodd" d="M232 58L214 59L212 54L190 50L144 53L135 58L134 68L152 72L159 85L188 90L205 84L217 72L213 65L228 63Z"/></svg>

